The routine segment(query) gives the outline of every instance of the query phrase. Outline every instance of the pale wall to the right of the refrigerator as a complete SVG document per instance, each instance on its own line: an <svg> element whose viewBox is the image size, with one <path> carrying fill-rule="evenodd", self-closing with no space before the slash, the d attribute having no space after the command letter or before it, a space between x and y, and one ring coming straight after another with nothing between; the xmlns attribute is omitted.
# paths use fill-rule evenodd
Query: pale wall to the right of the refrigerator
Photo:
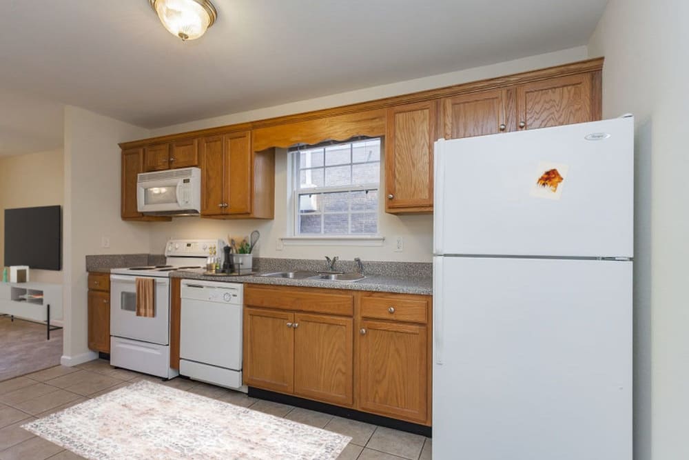
<svg viewBox="0 0 689 460"><path fill-rule="evenodd" d="M605 117L636 116L635 459L687 459L689 3L610 0L589 43L605 55Z"/></svg>

